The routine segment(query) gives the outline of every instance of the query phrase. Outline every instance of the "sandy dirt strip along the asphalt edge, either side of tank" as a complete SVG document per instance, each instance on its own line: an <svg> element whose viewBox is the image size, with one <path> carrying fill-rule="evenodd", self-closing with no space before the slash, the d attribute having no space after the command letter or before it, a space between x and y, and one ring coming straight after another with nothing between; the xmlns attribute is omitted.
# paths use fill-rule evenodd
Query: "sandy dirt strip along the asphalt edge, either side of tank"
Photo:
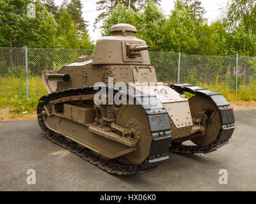
<svg viewBox="0 0 256 204"><path fill-rule="evenodd" d="M230 101L230 106L234 110L256 109L256 101ZM32 113L12 113L11 107L0 109L0 121L12 120L35 120L37 119L36 112Z"/></svg>

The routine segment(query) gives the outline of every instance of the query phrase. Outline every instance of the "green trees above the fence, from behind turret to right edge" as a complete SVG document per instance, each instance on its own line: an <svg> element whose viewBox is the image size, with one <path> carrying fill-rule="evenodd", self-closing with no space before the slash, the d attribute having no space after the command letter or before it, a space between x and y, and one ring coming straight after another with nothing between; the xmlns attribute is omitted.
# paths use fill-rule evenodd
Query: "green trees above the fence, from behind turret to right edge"
<svg viewBox="0 0 256 204"><path fill-rule="evenodd" d="M140 11L127 8L122 1L99 1L100 5L107 3L112 6L104 15L104 36L110 35L112 25L128 23L138 29L136 36L145 40L152 51L256 56L255 1L230 1L223 18L210 25L199 0L176 0L168 17L154 1L147 1Z"/></svg>

